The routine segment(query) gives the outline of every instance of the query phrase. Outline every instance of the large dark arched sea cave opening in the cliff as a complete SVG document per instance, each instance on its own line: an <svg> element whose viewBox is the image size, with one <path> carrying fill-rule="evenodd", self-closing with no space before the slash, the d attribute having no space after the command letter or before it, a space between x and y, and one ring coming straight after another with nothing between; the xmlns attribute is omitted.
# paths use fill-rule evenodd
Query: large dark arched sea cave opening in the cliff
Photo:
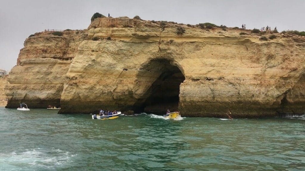
<svg viewBox="0 0 305 171"><path fill-rule="evenodd" d="M177 110L180 84L185 80L181 70L167 59L153 59L144 64L137 75L134 105L136 113L165 114Z"/></svg>

